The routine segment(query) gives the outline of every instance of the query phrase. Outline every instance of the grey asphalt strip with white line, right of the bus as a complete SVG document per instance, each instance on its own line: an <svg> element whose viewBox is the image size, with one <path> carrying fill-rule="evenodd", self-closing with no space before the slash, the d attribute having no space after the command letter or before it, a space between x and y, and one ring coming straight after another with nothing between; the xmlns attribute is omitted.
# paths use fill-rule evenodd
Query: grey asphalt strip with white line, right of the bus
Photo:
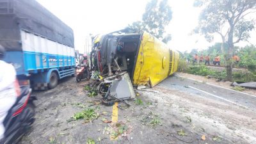
<svg viewBox="0 0 256 144"><path fill-rule="evenodd" d="M235 104L244 108L256 109L255 95L214 86L213 84L202 83L180 76L173 76L168 77L168 79L165 79L159 85L194 95L200 95L202 97L209 97L214 100L220 100L221 102L227 102L228 104Z"/></svg>

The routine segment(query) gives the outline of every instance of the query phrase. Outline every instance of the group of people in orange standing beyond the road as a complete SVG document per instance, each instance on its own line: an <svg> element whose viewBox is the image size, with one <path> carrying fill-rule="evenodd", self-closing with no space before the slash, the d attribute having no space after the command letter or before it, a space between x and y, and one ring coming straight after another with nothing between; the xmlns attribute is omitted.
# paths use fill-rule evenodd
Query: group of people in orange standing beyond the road
<svg viewBox="0 0 256 144"><path fill-rule="evenodd" d="M232 57L232 60L234 60L234 62L238 64L240 61L240 58L239 56L237 56L237 54L234 54L234 56ZM198 56L198 54L195 54L193 56L193 65L198 63L198 61L199 61L199 65L201 65L202 63L204 63L205 65L211 65L210 63L212 62L212 65L220 66L221 58L219 54L216 54L216 56L214 57L211 57L210 54L207 54L206 56L204 56L203 54L201 54L200 56ZM188 62L190 61L188 60Z"/></svg>

